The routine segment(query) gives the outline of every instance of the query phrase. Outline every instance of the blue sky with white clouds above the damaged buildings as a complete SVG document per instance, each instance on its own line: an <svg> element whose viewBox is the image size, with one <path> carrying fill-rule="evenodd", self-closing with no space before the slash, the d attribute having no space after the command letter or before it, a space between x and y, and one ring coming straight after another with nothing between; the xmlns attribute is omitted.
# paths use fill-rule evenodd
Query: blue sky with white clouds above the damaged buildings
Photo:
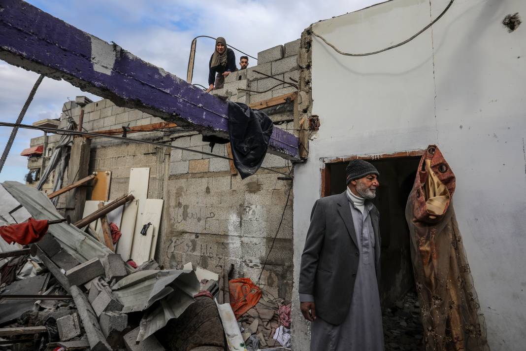
<svg viewBox="0 0 526 351"><path fill-rule="evenodd" d="M29 3L63 21L93 34L179 77L186 77L191 40L198 35L224 36L231 44L251 56L266 48L300 37L311 23L356 11L381 0L225 0L156 1L147 0L29 0ZM206 85L207 64L214 41L200 38L197 43L194 83ZM236 57L241 54L236 53ZM250 60L250 65L255 65ZM0 61L0 121L15 122L38 75ZM58 118L62 104L77 95L92 100L64 81L44 78L23 123ZM0 153L11 128L0 127ZM29 139L38 131L19 129L0 182L23 182L27 158L20 156Z"/></svg>

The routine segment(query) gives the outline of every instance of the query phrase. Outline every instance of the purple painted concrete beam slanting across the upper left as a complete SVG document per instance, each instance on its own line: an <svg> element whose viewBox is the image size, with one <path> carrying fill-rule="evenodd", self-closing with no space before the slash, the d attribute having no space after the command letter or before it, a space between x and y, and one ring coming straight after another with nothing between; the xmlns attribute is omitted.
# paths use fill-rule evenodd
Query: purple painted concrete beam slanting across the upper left
<svg viewBox="0 0 526 351"><path fill-rule="evenodd" d="M0 2L0 59L207 135L228 135L228 104L20 0ZM274 127L269 153L299 160L298 137Z"/></svg>

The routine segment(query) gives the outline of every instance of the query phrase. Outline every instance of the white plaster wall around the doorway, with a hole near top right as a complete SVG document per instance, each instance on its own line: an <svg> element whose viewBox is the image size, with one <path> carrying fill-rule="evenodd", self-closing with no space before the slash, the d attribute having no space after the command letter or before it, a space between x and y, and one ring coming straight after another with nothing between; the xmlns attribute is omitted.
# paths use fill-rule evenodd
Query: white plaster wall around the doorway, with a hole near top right
<svg viewBox="0 0 526 351"><path fill-rule="evenodd" d="M395 0L313 25L342 51L407 39L449 0ZM526 325L526 23L501 22L523 0L456 0L412 42L367 57L313 37L312 114L320 130L295 168L294 349L307 351L297 282L322 157L383 154L438 144L457 176L454 195L492 350L522 350ZM380 178L381 179L381 178Z"/></svg>

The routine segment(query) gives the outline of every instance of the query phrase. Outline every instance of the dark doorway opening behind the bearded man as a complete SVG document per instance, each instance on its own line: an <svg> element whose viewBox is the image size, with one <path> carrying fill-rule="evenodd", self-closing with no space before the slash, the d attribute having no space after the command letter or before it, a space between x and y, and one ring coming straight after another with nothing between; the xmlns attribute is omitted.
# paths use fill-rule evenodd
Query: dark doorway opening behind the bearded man
<svg viewBox="0 0 526 351"><path fill-rule="evenodd" d="M422 323L411 263L406 204L423 151L325 159L321 171L321 196L336 195L346 189L345 168L353 158L366 159L380 173L380 187L373 203L380 212L381 282L385 349L422 350Z"/></svg>

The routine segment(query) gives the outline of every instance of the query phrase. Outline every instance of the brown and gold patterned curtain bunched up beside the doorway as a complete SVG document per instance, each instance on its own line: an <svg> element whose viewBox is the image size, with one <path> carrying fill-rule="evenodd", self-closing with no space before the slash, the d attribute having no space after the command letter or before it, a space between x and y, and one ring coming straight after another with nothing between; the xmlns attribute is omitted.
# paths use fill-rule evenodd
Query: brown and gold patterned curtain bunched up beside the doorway
<svg viewBox="0 0 526 351"><path fill-rule="evenodd" d="M406 219L426 350L489 350L452 198L455 176L436 145L420 160Z"/></svg>

